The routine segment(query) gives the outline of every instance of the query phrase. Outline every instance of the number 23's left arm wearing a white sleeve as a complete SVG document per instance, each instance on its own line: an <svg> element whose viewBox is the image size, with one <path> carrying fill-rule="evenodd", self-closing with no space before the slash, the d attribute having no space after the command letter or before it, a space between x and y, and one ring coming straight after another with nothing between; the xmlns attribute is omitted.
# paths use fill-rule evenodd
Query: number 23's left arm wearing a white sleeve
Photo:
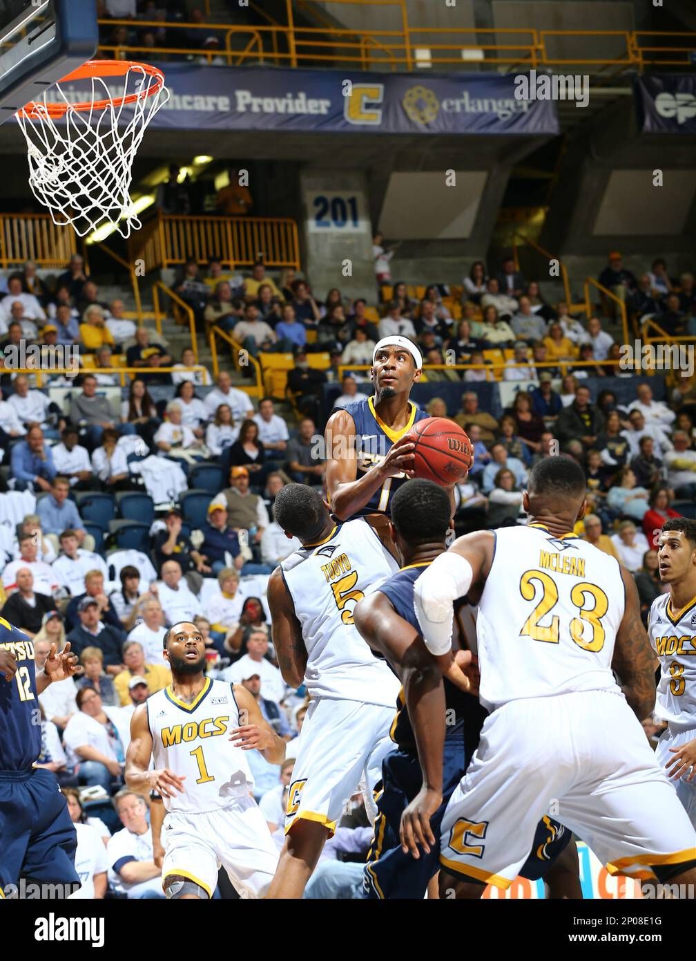
<svg viewBox="0 0 696 961"><path fill-rule="evenodd" d="M414 606L425 647L432 654L447 653L452 646L454 602L481 586L491 570L495 535L478 530L459 537L436 557L414 588Z"/></svg>

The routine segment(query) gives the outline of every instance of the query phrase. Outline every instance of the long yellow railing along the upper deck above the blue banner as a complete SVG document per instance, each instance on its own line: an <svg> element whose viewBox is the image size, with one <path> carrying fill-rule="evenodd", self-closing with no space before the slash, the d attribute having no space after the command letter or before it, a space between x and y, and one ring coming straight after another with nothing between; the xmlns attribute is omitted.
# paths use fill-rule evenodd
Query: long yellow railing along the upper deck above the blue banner
<svg viewBox="0 0 696 961"><path fill-rule="evenodd" d="M364 5L395 10L400 23L396 29L335 27L326 23L319 9L315 17L322 20L317 27L295 23L292 0L286 0L285 23L266 16L268 23L253 27L229 23L168 23L167 30L175 44L167 48L119 46L108 39L100 46L101 56L116 60L143 58L161 60L173 57L198 58L212 62L223 58L229 65L245 62L269 62L276 66L309 64L354 64L363 69L387 67L411 70L422 64L416 51L426 51L425 62L432 67L458 66L482 62L493 69L504 65L528 67L563 67L587 65L597 68L615 66L642 71L646 66L689 67L696 52L696 33L666 33L623 30L537 30L498 27L420 27L411 26L406 0L324 0L324 3ZM311 9L313 0L303 0L302 8ZM132 28L130 20L103 20L105 37L114 26ZM139 28L161 27L158 21L140 20ZM206 50L203 43L211 34L220 37L218 50ZM191 37L201 37L200 42ZM245 43L246 37L246 43ZM577 55L557 57L554 41L562 37L566 46L577 39ZM613 56L597 56L599 39L616 41ZM236 45L235 45L236 41ZM422 55L421 55L422 56Z"/></svg>

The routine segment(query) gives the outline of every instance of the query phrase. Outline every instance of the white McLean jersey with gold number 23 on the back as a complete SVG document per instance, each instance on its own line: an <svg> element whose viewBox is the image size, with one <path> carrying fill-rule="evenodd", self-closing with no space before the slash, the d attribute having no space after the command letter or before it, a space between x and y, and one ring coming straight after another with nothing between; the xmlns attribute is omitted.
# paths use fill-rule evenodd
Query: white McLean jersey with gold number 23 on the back
<svg viewBox="0 0 696 961"><path fill-rule="evenodd" d="M478 605L480 701L618 691L612 675L624 613L618 561L575 534L540 525L495 531Z"/></svg>

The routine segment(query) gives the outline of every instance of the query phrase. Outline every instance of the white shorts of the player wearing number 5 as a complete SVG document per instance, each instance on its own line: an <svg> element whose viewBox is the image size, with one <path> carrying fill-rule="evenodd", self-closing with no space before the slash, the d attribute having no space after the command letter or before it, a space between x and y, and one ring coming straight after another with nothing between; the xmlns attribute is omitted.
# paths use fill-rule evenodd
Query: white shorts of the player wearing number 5
<svg viewBox="0 0 696 961"><path fill-rule="evenodd" d="M333 698L310 702L288 793L286 834L300 818L333 834L361 780L372 795L382 760L394 749L393 721L394 707Z"/></svg>

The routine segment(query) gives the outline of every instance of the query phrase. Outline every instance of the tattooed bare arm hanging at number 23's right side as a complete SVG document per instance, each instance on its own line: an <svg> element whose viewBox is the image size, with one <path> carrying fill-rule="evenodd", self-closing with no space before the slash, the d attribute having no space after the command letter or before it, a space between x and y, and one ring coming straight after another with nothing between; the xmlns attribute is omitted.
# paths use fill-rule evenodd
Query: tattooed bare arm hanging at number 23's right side
<svg viewBox="0 0 696 961"><path fill-rule="evenodd" d="M623 693L638 721L643 721L655 707L655 655L640 620L636 582L624 567L621 568L621 578L626 606L616 631L612 670L621 679Z"/></svg>

